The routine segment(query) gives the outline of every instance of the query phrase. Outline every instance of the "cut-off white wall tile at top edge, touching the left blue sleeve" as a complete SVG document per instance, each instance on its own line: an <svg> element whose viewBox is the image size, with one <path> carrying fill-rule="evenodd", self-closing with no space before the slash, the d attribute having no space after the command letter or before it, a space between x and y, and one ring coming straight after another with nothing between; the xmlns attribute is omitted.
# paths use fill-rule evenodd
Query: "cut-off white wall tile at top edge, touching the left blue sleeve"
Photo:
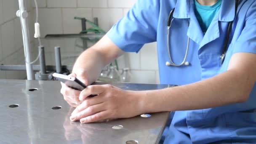
<svg viewBox="0 0 256 144"><path fill-rule="evenodd" d="M131 8L136 0L108 0L109 8Z"/></svg>

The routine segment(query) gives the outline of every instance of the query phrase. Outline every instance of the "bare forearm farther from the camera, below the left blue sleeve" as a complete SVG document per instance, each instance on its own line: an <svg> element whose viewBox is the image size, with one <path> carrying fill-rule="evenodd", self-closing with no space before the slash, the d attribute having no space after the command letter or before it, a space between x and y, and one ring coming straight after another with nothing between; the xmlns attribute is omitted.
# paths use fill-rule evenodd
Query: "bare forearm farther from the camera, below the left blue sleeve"
<svg viewBox="0 0 256 144"><path fill-rule="evenodd" d="M101 70L124 52L107 35L98 43L84 51L74 64L73 72L83 70L87 74L88 84L95 82Z"/></svg>

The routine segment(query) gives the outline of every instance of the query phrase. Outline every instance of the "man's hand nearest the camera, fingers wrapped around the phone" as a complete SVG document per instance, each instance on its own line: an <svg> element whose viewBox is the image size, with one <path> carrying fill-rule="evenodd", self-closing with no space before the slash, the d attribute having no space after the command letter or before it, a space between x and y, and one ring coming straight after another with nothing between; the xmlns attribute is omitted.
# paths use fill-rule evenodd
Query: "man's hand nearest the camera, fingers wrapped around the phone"
<svg viewBox="0 0 256 144"><path fill-rule="evenodd" d="M99 94L89 98L91 94ZM70 120L92 123L101 120L134 117L141 114L140 96L134 91L124 91L112 85L90 85L79 96L83 101Z"/></svg>

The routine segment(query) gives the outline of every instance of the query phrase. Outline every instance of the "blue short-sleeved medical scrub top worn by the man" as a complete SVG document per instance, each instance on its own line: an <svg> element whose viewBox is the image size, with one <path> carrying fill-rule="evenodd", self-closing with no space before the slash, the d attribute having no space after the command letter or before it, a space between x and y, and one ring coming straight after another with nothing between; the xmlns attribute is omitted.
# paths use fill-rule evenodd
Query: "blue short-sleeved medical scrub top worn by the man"
<svg viewBox="0 0 256 144"><path fill-rule="evenodd" d="M183 61L189 37L186 67L166 66L167 20L175 7L170 30L173 62ZM220 55L229 21L232 31L224 63ZM194 0L137 0L128 14L107 35L123 51L138 52L145 43L157 41L160 83L185 85L227 71L234 53L256 53L256 1L223 0L207 32L203 34L194 13ZM165 137L165 144L210 142L256 143L256 85L244 103L210 109L177 111Z"/></svg>

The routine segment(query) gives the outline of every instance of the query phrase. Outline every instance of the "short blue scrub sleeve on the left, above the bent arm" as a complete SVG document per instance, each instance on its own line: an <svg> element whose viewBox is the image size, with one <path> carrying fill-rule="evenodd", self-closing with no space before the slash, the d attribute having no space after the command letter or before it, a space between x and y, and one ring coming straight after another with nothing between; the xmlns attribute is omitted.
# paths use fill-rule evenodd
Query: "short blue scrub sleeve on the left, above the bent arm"
<svg viewBox="0 0 256 144"><path fill-rule="evenodd" d="M159 11L159 0L137 0L107 36L123 51L138 52L145 43L156 41Z"/></svg>

